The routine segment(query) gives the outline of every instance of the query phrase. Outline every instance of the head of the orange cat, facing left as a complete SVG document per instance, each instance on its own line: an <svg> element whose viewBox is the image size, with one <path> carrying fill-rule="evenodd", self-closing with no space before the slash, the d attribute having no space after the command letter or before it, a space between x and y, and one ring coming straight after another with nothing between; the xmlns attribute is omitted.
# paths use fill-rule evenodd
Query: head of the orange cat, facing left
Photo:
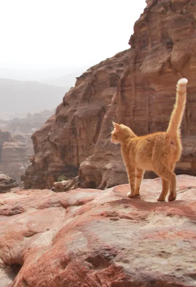
<svg viewBox="0 0 196 287"><path fill-rule="evenodd" d="M136 137L132 130L123 125L112 122L114 129L111 133L111 142L114 144L123 143L127 138Z"/></svg>

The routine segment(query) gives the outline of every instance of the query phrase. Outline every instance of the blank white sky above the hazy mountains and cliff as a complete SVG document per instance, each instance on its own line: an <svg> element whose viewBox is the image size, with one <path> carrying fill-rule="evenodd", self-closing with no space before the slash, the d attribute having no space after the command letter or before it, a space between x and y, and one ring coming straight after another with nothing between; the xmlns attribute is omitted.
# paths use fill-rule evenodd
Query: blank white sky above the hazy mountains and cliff
<svg viewBox="0 0 196 287"><path fill-rule="evenodd" d="M97 64L129 48L145 0L0 0L0 67Z"/></svg>

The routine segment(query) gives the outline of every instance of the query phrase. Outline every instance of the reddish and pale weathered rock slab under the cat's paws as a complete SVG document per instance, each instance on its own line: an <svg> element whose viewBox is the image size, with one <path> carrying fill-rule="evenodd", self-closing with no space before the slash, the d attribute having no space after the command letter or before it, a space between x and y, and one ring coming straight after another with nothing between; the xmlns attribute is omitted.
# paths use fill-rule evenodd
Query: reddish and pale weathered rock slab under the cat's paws
<svg viewBox="0 0 196 287"><path fill-rule="evenodd" d="M159 179L128 191L0 194L0 286L196 286L196 178L173 202L156 202Z"/></svg>

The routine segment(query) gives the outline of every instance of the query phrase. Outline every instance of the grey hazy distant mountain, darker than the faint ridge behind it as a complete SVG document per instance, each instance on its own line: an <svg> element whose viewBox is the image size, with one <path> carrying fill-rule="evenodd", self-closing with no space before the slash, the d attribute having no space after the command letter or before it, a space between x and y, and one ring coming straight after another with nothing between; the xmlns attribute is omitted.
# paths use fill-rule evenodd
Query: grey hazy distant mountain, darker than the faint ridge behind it
<svg viewBox="0 0 196 287"><path fill-rule="evenodd" d="M0 114L52 110L70 89L39 82L0 79Z"/></svg>

